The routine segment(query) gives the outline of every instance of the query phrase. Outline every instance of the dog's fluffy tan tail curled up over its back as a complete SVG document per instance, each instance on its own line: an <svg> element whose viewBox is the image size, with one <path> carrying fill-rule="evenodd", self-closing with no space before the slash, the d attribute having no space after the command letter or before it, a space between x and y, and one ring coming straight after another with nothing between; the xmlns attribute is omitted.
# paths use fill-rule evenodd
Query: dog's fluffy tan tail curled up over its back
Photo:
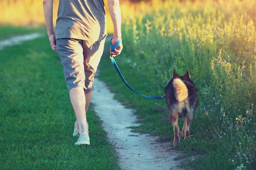
<svg viewBox="0 0 256 170"><path fill-rule="evenodd" d="M188 88L181 79L173 79L173 87L175 89L174 95L178 102L182 102L189 96Z"/></svg>

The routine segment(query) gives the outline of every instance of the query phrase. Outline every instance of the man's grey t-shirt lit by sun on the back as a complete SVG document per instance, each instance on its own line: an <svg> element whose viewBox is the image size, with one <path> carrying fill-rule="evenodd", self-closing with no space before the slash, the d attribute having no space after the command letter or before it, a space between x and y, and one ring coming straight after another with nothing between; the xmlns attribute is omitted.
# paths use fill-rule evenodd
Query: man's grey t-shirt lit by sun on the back
<svg viewBox="0 0 256 170"><path fill-rule="evenodd" d="M55 32L56 39L102 40L107 35L103 0L59 0Z"/></svg>

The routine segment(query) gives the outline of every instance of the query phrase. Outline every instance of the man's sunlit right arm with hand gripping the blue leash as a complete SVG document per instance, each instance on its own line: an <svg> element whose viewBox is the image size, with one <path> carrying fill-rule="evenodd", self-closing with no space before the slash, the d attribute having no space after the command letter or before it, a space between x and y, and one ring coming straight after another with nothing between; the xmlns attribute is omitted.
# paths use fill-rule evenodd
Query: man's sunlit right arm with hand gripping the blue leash
<svg viewBox="0 0 256 170"><path fill-rule="evenodd" d="M122 36L121 35L121 10L119 6L119 0L108 0L108 7L110 10L110 16L114 26L114 34L111 40L111 44L115 45L117 41L121 39L121 36ZM121 43L119 46L117 46L115 51L111 52L111 49L110 49L110 55L115 57L116 55L119 55L121 53L122 49L123 49L123 44Z"/></svg>

